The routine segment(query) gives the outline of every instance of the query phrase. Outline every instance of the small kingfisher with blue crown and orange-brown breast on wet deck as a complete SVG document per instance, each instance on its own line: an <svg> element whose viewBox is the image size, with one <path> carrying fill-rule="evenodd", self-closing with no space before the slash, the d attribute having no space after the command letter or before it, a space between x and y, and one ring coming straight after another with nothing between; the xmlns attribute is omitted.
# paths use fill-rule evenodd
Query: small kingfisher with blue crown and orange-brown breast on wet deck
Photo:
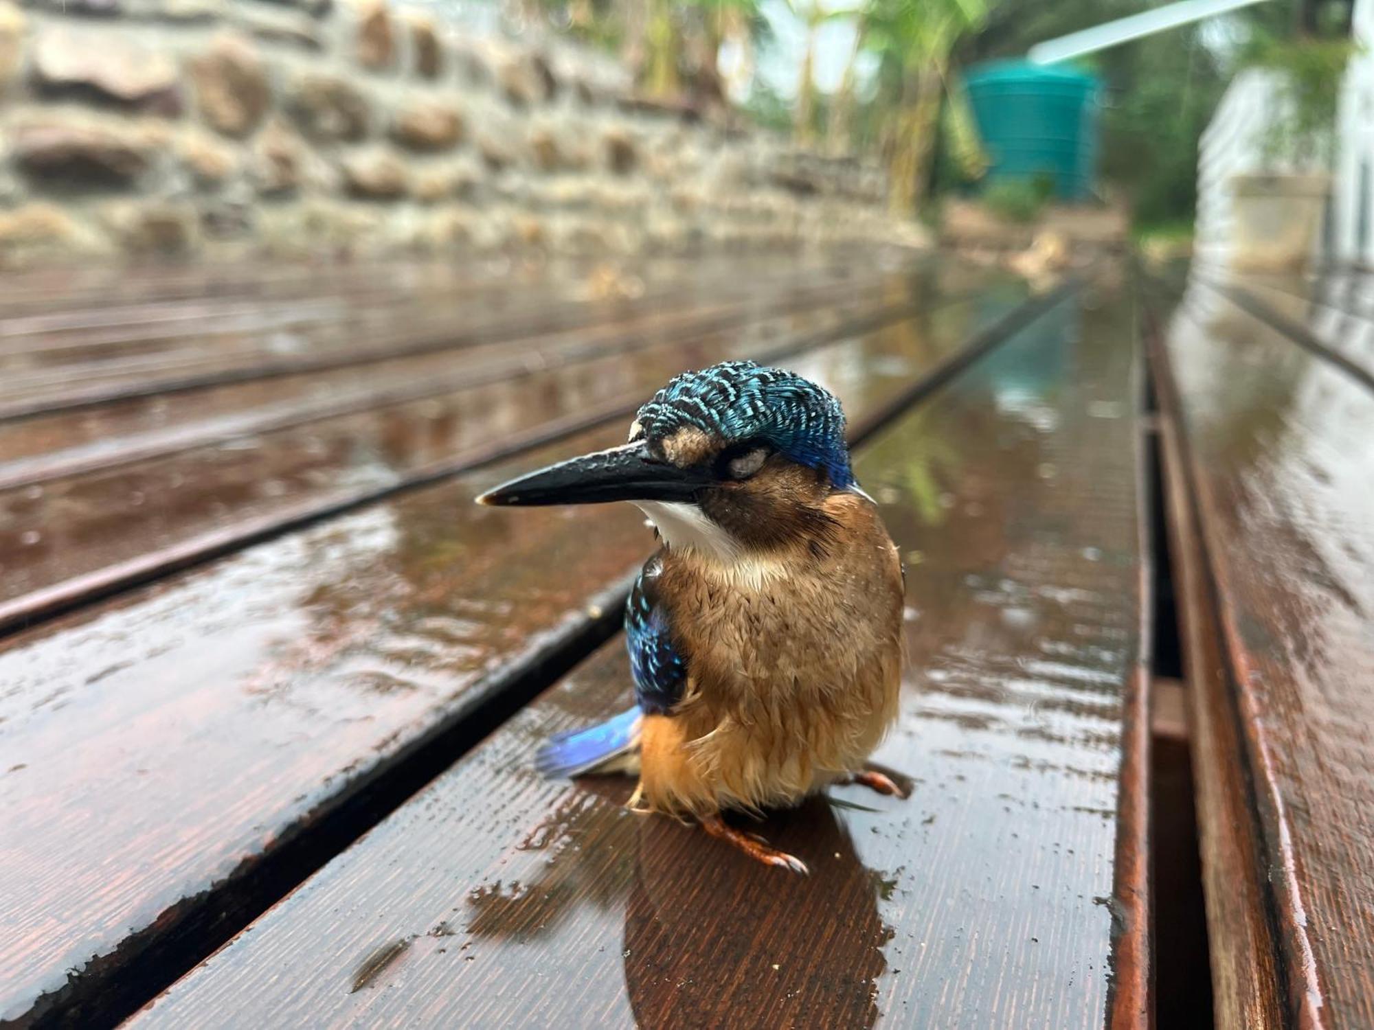
<svg viewBox="0 0 1374 1030"><path fill-rule="evenodd" d="M478 497L605 501L636 504L660 542L625 611L638 703L555 736L536 765L638 775L631 808L807 872L721 812L796 805L831 783L903 797L866 762L897 716L904 571L855 481L840 401L725 361L672 379L628 444Z"/></svg>

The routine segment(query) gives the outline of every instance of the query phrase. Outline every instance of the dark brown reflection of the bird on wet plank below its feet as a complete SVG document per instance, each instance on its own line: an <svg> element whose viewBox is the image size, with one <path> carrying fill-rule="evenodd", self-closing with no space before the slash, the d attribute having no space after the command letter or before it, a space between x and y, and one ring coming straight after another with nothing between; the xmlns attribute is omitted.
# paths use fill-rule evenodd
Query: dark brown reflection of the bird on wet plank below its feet
<svg viewBox="0 0 1374 1030"><path fill-rule="evenodd" d="M802 858L812 872L798 876L697 827L625 813L625 779L578 787L525 842L555 849L539 879L514 894L469 895L470 934L533 945L583 905L606 916L624 905L625 990L642 1026L716 1026L743 1014L769 1026L877 1022L888 884L859 860L846 802L822 795L758 823L731 817Z"/></svg>

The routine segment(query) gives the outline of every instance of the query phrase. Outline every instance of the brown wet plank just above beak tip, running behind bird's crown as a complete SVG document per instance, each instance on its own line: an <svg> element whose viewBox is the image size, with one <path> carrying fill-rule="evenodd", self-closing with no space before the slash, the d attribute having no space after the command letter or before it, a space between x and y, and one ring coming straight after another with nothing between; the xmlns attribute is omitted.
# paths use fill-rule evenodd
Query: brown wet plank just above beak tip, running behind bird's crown
<svg viewBox="0 0 1374 1030"><path fill-rule="evenodd" d="M888 308L910 314L911 295ZM834 338L874 312L837 305L775 316L687 346L758 353L796 338ZM679 367L684 341L598 354L515 379L453 386L430 397L231 437L203 448L99 466L0 490L0 622L29 595L177 549L341 494L385 490L437 464L470 460L558 420L638 398ZM532 353L537 363L539 354ZM475 369L470 369L475 371Z"/></svg>

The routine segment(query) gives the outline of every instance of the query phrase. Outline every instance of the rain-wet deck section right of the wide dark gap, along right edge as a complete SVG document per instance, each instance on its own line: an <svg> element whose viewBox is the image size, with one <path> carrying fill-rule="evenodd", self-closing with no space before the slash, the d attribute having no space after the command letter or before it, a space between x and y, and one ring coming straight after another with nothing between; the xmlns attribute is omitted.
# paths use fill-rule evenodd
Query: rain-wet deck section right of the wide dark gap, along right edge
<svg viewBox="0 0 1374 1030"><path fill-rule="evenodd" d="M1224 1026L1374 1026L1369 288L1202 279L1158 313Z"/></svg>

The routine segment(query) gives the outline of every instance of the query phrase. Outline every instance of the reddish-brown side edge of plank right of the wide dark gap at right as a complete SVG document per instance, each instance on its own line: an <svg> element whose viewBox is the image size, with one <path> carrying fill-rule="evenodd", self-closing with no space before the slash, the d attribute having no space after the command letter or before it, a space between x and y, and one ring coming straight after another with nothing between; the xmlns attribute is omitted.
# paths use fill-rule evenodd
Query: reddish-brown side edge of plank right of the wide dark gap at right
<svg viewBox="0 0 1374 1030"><path fill-rule="evenodd" d="M1278 942L1270 924L1267 861L1245 768L1216 596L1206 578L1183 468L1172 376L1156 336L1169 552L1189 688L1189 743L1202 854L1212 1004L1220 1030L1285 1025Z"/></svg>

